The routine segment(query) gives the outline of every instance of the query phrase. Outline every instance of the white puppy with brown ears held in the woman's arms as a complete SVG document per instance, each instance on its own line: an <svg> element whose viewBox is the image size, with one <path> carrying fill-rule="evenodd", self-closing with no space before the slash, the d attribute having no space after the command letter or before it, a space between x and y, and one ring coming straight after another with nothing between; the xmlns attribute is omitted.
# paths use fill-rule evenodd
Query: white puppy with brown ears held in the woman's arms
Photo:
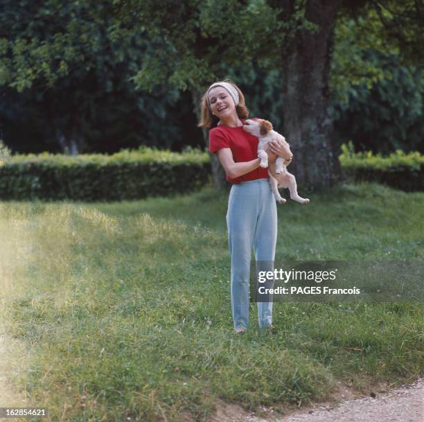
<svg viewBox="0 0 424 422"><path fill-rule="evenodd" d="M301 204L308 204L308 198L300 197L297 194L296 178L291 173L288 173L287 166L292 161L292 151L290 145L285 141L285 137L272 130L272 123L263 120L262 118L249 119L245 121L243 129L249 134L254 135L259 139L258 143L258 157L260 158L260 167L268 168L268 175L270 175L270 185L272 193L276 202L284 204L285 199L281 197L279 188L289 188L290 198ZM276 161L268 163L267 148L272 140L279 140L283 143L285 148L285 157L277 157ZM268 165L269 164L269 165Z"/></svg>

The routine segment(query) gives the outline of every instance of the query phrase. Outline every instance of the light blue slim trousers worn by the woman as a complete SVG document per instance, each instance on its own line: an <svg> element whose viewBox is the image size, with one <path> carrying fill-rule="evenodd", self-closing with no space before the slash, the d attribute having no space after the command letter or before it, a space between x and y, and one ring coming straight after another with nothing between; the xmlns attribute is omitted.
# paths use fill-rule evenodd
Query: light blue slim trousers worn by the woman
<svg viewBox="0 0 424 422"><path fill-rule="evenodd" d="M268 179L231 186L227 229L231 255L231 311L234 328L249 324L249 276L251 249L256 261L274 261L277 212ZM260 328L272 324L272 302L258 302Z"/></svg>

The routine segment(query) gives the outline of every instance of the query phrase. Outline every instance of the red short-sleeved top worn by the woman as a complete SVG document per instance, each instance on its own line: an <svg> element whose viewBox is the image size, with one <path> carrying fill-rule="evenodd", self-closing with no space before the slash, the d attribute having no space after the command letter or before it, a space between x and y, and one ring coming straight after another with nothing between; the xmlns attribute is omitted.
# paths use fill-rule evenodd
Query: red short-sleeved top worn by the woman
<svg viewBox="0 0 424 422"><path fill-rule="evenodd" d="M242 120L242 123L245 123L245 121ZM245 132L242 126L229 128L228 126L219 125L209 132L209 150L215 154L222 148L230 148L236 163L258 158L258 142L258 138ZM267 168L258 167L235 179L230 179L229 177L226 177L226 179L233 184L238 184L247 180L267 179L267 177Z"/></svg>

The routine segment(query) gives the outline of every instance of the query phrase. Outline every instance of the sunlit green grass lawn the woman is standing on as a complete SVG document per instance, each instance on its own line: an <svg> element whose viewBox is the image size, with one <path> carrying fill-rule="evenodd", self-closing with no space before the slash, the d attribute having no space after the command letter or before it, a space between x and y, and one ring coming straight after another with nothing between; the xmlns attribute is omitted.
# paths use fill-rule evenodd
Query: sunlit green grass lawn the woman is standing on
<svg viewBox="0 0 424 422"><path fill-rule="evenodd" d="M342 185L310 200L279 207L277 258L423 259L423 193ZM420 304L276 303L274 335L251 304L234 335L226 210L212 189L0 203L1 324L21 344L8 364L31 405L52 421L202 420L218 400L304 403L337 380L421 375Z"/></svg>

